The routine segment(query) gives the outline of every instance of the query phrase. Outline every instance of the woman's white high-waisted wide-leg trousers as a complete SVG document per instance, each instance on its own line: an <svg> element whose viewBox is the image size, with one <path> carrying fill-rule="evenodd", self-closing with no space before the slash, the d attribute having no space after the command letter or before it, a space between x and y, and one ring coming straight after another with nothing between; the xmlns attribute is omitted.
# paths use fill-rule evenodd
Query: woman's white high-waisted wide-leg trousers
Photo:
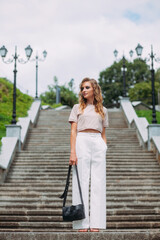
<svg viewBox="0 0 160 240"><path fill-rule="evenodd" d="M76 155L86 218L73 221L73 229L106 229L106 151L101 133L78 132ZM89 209L89 181L91 181ZM75 166L72 171L72 204L81 203ZM90 213L90 216L89 216Z"/></svg>

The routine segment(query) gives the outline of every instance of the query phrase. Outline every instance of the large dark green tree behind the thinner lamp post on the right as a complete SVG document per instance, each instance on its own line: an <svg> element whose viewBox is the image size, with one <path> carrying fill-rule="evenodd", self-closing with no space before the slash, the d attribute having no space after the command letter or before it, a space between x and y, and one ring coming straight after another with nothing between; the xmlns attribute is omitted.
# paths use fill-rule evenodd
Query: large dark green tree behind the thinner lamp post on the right
<svg viewBox="0 0 160 240"><path fill-rule="evenodd" d="M126 75L126 91L132 88L136 83L148 82L150 80L149 65L142 59L135 59L133 62L125 61L127 71ZM106 70L99 74L99 85L102 89L104 105L109 106L114 102L118 103L119 97L123 95L123 60L114 62Z"/></svg>

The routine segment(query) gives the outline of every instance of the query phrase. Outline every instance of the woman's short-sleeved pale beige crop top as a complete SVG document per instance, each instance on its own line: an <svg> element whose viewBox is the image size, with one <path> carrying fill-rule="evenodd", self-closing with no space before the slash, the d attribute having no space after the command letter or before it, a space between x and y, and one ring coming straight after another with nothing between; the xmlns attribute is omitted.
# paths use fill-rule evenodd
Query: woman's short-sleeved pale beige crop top
<svg viewBox="0 0 160 240"><path fill-rule="evenodd" d="M103 127L108 127L108 111L103 106L104 120L99 113L95 112L93 104L87 104L83 114L79 111L79 104L75 104L71 110L68 122L77 123L77 132L85 129L95 129L102 133Z"/></svg>

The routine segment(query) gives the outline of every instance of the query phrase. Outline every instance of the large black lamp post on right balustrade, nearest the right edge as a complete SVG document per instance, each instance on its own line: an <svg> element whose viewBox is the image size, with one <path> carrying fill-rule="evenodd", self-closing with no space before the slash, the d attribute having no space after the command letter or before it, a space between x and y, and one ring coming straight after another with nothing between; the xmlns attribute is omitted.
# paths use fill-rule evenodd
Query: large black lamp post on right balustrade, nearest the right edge
<svg viewBox="0 0 160 240"><path fill-rule="evenodd" d="M142 55L142 50L143 47L138 44L136 47L136 53L139 57L141 57ZM156 119L156 109L155 109L155 105L156 105L156 101L155 101L155 86L154 86L154 82L155 82L155 76L154 76L154 65L153 65L153 60L155 59L156 62L160 62L160 59L155 58L155 54L153 54L153 46L151 45L151 54L149 54L149 58L145 58L146 61L150 61L151 60L151 83L152 83L152 123L157 123L157 119Z"/></svg>

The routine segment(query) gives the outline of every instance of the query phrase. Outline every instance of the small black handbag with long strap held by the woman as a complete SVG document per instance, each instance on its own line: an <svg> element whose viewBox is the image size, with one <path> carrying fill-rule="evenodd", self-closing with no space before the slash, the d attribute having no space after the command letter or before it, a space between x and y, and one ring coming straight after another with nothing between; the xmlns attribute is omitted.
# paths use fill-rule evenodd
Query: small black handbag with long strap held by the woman
<svg viewBox="0 0 160 240"><path fill-rule="evenodd" d="M75 165L75 168L76 168L76 175L77 175L77 180L78 180L78 188L79 188L79 193L80 193L80 198L81 198L81 204L65 206L68 188L69 188L69 178L70 178L71 168L72 168L72 165L69 165L65 190L64 190L64 193L62 194L62 196L60 196L60 198L64 198L63 208L62 208L62 216L63 216L63 221L66 221L66 222L81 220L81 219L85 218L84 203L83 203L83 198L82 198L81 186L80 186L80 182L79 182L77 165Z"/></svg>

